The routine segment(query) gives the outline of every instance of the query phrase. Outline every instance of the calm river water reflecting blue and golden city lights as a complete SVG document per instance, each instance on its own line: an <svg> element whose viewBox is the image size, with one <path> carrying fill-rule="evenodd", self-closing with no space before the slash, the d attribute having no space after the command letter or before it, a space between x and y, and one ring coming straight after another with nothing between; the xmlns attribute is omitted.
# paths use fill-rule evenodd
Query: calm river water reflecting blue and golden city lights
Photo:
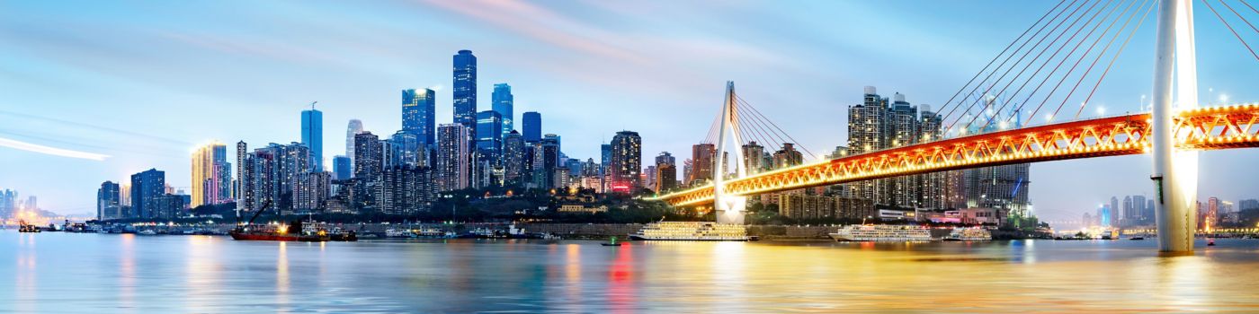
<svg viewBox="0 0 1259 314"><path fill-rule="evenodd" d="M0 313L1259 311L1259 240L232 241L0 231Z"/></svg>

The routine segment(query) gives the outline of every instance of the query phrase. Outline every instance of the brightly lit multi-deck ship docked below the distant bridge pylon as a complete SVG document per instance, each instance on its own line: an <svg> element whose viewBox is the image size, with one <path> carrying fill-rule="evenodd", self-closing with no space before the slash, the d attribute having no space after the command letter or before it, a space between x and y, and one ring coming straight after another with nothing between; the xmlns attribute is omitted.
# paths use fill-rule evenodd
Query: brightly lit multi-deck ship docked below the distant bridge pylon
<svg viewBox="0 0 1259 314"><path fill-rule="evenodd" d="M674 240L674 241L753 241L743 225L700 222L700 221L660 221L647 224L633 240Z"/></svg>

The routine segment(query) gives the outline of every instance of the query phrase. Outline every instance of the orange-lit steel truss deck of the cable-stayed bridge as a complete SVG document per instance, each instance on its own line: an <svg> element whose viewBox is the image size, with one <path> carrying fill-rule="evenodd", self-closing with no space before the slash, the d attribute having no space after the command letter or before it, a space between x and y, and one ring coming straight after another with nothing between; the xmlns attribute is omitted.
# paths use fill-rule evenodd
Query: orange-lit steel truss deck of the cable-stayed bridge
<svg viewBox="0 0 1259 314"><path fill-rule="evenodd" d="M1149 113L1064 122L949 138L783 168L725 182L728 195L750 196L805 187L1011 163L1138 154L1149 149ZM1259 106L1191 109L1175 119L1177 147L1259 147ZM648 197L672 206L713 202L713 186Z"/></svg>

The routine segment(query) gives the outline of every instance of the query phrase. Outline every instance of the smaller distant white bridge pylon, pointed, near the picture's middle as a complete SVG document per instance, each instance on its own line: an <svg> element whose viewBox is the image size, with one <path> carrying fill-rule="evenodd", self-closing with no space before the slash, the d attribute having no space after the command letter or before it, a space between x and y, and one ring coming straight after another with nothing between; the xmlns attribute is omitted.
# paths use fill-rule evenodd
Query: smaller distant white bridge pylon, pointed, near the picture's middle
<svg viewBox="0 0 1259 314"><path fill-rule="evenodd" d="M734 94L734 82L725 82L725 102L721 103L721 123L718 129L716 156L713 167L713 210L716 211L719 224L744 224L744 210L748 197L726 195L725 192L725 152L726 142L734 142L734 175L737 178L747 176L743 163L743 139L739 138L739 107Z"/></svg>

